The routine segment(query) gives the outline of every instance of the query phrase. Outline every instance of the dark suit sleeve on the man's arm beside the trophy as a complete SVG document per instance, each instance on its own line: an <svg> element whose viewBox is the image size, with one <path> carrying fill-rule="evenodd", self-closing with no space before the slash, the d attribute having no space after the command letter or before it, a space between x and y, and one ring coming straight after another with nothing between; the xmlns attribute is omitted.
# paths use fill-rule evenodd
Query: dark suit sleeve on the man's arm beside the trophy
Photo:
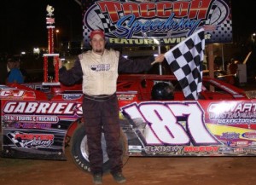
<svg viewBox="0 0 256 185"><path fill-rule="evenodd" d="M62 84L73 85L82 78L83 71L79 58L74 62L71 69L67 70L66 66L62 66L59 70L59 79Z"/></svg>

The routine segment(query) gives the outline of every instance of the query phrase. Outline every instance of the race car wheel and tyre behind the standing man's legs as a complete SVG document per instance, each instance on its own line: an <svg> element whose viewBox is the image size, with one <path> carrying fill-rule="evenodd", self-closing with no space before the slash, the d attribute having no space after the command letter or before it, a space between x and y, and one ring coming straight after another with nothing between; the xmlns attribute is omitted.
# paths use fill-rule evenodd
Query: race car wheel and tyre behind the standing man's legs
<svg viewBox="0 0 256 185"><path fill-rule="evenodd" d="M128 146L124 133L121 131L120 144L123 147L123 164L127 162L129 155L127 153ZM110 171L110 164L107 154L107 145L104 134L102 133L102 153L103 153L103 173ZM85 134L84 124L79 124L78 128L73 132L71 140L71 155L75 165L84 172L90 172L89 153L87 145L87 136Z"/></svg>

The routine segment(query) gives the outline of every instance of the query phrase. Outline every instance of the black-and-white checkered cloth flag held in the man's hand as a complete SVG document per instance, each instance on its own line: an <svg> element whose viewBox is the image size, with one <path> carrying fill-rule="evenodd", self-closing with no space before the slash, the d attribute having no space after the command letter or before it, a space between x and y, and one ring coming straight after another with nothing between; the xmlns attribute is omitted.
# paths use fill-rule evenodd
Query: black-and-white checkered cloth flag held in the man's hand
<svg viewBox="0 0 256 185"><path fill-rule="evenodd" d="M165 54L186 99L197 100L201 92L204 50L204 29L201 28Z"/></svg>

